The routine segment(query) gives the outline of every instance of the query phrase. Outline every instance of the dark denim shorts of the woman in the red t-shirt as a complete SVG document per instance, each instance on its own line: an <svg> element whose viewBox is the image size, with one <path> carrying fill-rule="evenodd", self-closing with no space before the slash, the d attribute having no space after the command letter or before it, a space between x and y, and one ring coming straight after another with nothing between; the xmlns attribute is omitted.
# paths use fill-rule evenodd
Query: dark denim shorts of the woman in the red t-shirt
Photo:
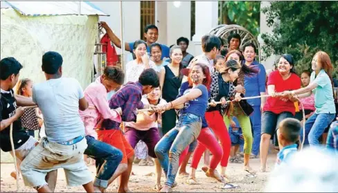
<svg viewBox="0 0 338 193"><path fill-rule="evenodd" d="M269 134L274 137L279 123L285 118L294 118L294 115L287 111L279 114L273 113L272 111L264 111L262 113L262 131L260 134Z"/></svg>

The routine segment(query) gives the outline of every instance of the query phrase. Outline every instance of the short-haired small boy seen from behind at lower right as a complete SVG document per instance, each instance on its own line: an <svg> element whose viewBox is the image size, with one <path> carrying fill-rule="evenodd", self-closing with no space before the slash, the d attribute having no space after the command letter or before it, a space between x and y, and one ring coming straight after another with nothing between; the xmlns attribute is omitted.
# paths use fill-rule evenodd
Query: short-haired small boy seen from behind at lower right
<svg viewBox="0 0 338 193"><path fill-rule="evenodd" d="M277 154L276 165L286 163L297 152L301 127L301 122L295 118L285 118L279 124L277 130L278 145L282 149Z"/></svg>

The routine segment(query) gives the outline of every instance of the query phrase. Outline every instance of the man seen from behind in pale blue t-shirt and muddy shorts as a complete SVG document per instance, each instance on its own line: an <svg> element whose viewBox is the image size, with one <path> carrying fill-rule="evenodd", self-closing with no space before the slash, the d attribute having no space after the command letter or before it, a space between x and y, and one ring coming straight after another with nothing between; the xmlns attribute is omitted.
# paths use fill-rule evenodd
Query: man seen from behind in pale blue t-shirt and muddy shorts
<svg viewBox="0 0 338 193"><path fill-rule="evenodd" d="M21 172L25 185L37 192L51 192L44 178L59 168L64 169L68 185L82 185L87 192L94 192L91 172L84 163L87 140L78 113L87 109L88 102L77 80L62 77L62 62L56 52L42 56L46 82L33 86L33 102L44 115L46 138L24 159Z"/></svg>

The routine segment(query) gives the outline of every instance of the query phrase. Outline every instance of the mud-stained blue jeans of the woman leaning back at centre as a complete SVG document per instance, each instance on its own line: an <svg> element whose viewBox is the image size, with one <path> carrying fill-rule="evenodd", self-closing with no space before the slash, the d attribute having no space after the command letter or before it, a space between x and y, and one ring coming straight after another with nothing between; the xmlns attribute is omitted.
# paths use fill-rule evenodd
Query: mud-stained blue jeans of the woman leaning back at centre
<svg viewBox="0 0 338 193"><path fill-rule="evenodd" d="M172 186L179 169L181 152L193 143L202 129L202 119L190 113L179 117L175 128L168 131L155 147L155 154L167 175L166 185ZM169 151L169 154L168 154Z"/></svg>

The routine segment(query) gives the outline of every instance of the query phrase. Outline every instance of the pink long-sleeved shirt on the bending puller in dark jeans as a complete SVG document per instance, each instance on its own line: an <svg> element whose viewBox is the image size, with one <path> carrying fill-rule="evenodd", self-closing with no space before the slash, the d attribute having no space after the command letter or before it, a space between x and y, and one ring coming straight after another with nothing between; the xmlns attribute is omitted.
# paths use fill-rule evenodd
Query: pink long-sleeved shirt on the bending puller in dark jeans
<svg viewBox="0 0 338 193"><path fill-rule="evenodd" d="M87 86L84 90L84 98L88 101L89 107L84 111L79 111L79 113L84 122L87 136L98 138L95 127L101 118L121 122L120 114L109 108L107 89L101 83L101 77L98 77L95 82Z"/></svg>

